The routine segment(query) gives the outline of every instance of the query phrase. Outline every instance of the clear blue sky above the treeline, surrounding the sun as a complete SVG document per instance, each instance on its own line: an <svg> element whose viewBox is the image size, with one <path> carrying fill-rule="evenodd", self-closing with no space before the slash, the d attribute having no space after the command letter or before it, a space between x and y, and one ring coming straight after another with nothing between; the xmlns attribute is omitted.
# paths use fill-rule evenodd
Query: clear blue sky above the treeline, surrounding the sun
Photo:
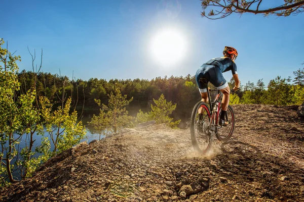
<svg viewBox="0 0 304 202"><path fill-rule="evenodd" d="M283 1L262 6L276 2ZM302 68L304 13L208 20L201 11L199 0L4 0L0 37L21 56L20 70L32 69L27 46L36 49L37 58L43 48L42 71L59 74L60 69L70 79L72 74L83 80L195 75L204 62L222 56L225 45L238 49L241 84L263 78L267 85ZM175 30L186 44L175 64L151 56L151 41L162 30ZM224 73L226 80L231 76Z"/></svg>

